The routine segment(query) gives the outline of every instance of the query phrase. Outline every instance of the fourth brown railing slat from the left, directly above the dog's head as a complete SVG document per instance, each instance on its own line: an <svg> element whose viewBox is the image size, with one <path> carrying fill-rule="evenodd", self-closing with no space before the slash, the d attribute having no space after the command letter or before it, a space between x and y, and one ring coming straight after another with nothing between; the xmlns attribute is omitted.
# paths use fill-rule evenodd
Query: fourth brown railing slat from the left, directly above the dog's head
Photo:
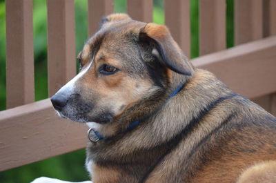
<svg viewBox="0 0 276 183"><path fill-rule="evenodd" d="M128 15L137 21L152 22L153 0L128 0Z"/></svg>

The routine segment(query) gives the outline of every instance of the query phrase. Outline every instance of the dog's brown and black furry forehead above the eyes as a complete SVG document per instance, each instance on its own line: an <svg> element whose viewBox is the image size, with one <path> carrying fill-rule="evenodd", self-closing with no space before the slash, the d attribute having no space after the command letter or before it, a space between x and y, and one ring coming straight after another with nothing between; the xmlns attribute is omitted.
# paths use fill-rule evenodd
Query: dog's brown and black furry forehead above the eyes
<svg viewBox="0 0 276 183"><path fill-rule="evenodd" d="M112 23L108 27L101 28L88 39L81 51L81 57L89 58L93 49L98 49L97 56L120 60L120 64L125 68L129 66L139 68L139 58L135 57L138 55L137 45L133 39L145 25L146 23L139 21L128 21Z"/></svg>

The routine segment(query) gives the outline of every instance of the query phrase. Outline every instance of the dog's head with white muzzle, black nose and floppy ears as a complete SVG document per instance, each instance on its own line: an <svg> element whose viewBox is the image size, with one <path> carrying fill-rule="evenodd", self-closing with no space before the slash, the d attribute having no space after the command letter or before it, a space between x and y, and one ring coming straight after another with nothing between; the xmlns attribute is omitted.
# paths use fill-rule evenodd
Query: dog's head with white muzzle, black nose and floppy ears
<svg viewBox="0 0 276 183"><path fill-rule="evenodd" d="M51 98L61 117L76 122L107 124L143 115L139 111L150 111L167 95L173 72L193 74L166 26L125 14L103 18L77 59L79 74Z"/></svg>

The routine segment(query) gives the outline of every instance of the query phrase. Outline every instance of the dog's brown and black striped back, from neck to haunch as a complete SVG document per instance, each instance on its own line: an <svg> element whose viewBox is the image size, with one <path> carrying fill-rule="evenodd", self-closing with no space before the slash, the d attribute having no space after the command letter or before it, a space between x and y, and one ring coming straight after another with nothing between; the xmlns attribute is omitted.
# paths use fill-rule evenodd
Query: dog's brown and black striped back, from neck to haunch
<svg viewBox="0 0 276 183"><path fill-rule="evenodd" d="M185 113L178 119L168 117L170 122L181 117L183 122L187 112L196 114L181 131L183 138L146 182L236 182L250 166L276 160L276 119L263 108L204 70L197 70L179 95L181 99L176 100L183 102Z"/></svg>

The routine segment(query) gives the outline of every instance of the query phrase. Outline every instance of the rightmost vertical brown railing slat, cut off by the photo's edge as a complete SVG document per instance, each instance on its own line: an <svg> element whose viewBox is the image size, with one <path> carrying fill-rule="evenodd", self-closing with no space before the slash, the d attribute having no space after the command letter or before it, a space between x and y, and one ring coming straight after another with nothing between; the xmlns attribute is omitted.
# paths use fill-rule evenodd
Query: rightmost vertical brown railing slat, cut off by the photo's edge
<svg viewBox="0 0 276 183"><path fill-rule="evenodd" d="M276 1L264 0L264 37L276 35ZM269 97L268 97L269 96ZM269 112L276 116L276 93L270 94L268 97Z"/></svg>

